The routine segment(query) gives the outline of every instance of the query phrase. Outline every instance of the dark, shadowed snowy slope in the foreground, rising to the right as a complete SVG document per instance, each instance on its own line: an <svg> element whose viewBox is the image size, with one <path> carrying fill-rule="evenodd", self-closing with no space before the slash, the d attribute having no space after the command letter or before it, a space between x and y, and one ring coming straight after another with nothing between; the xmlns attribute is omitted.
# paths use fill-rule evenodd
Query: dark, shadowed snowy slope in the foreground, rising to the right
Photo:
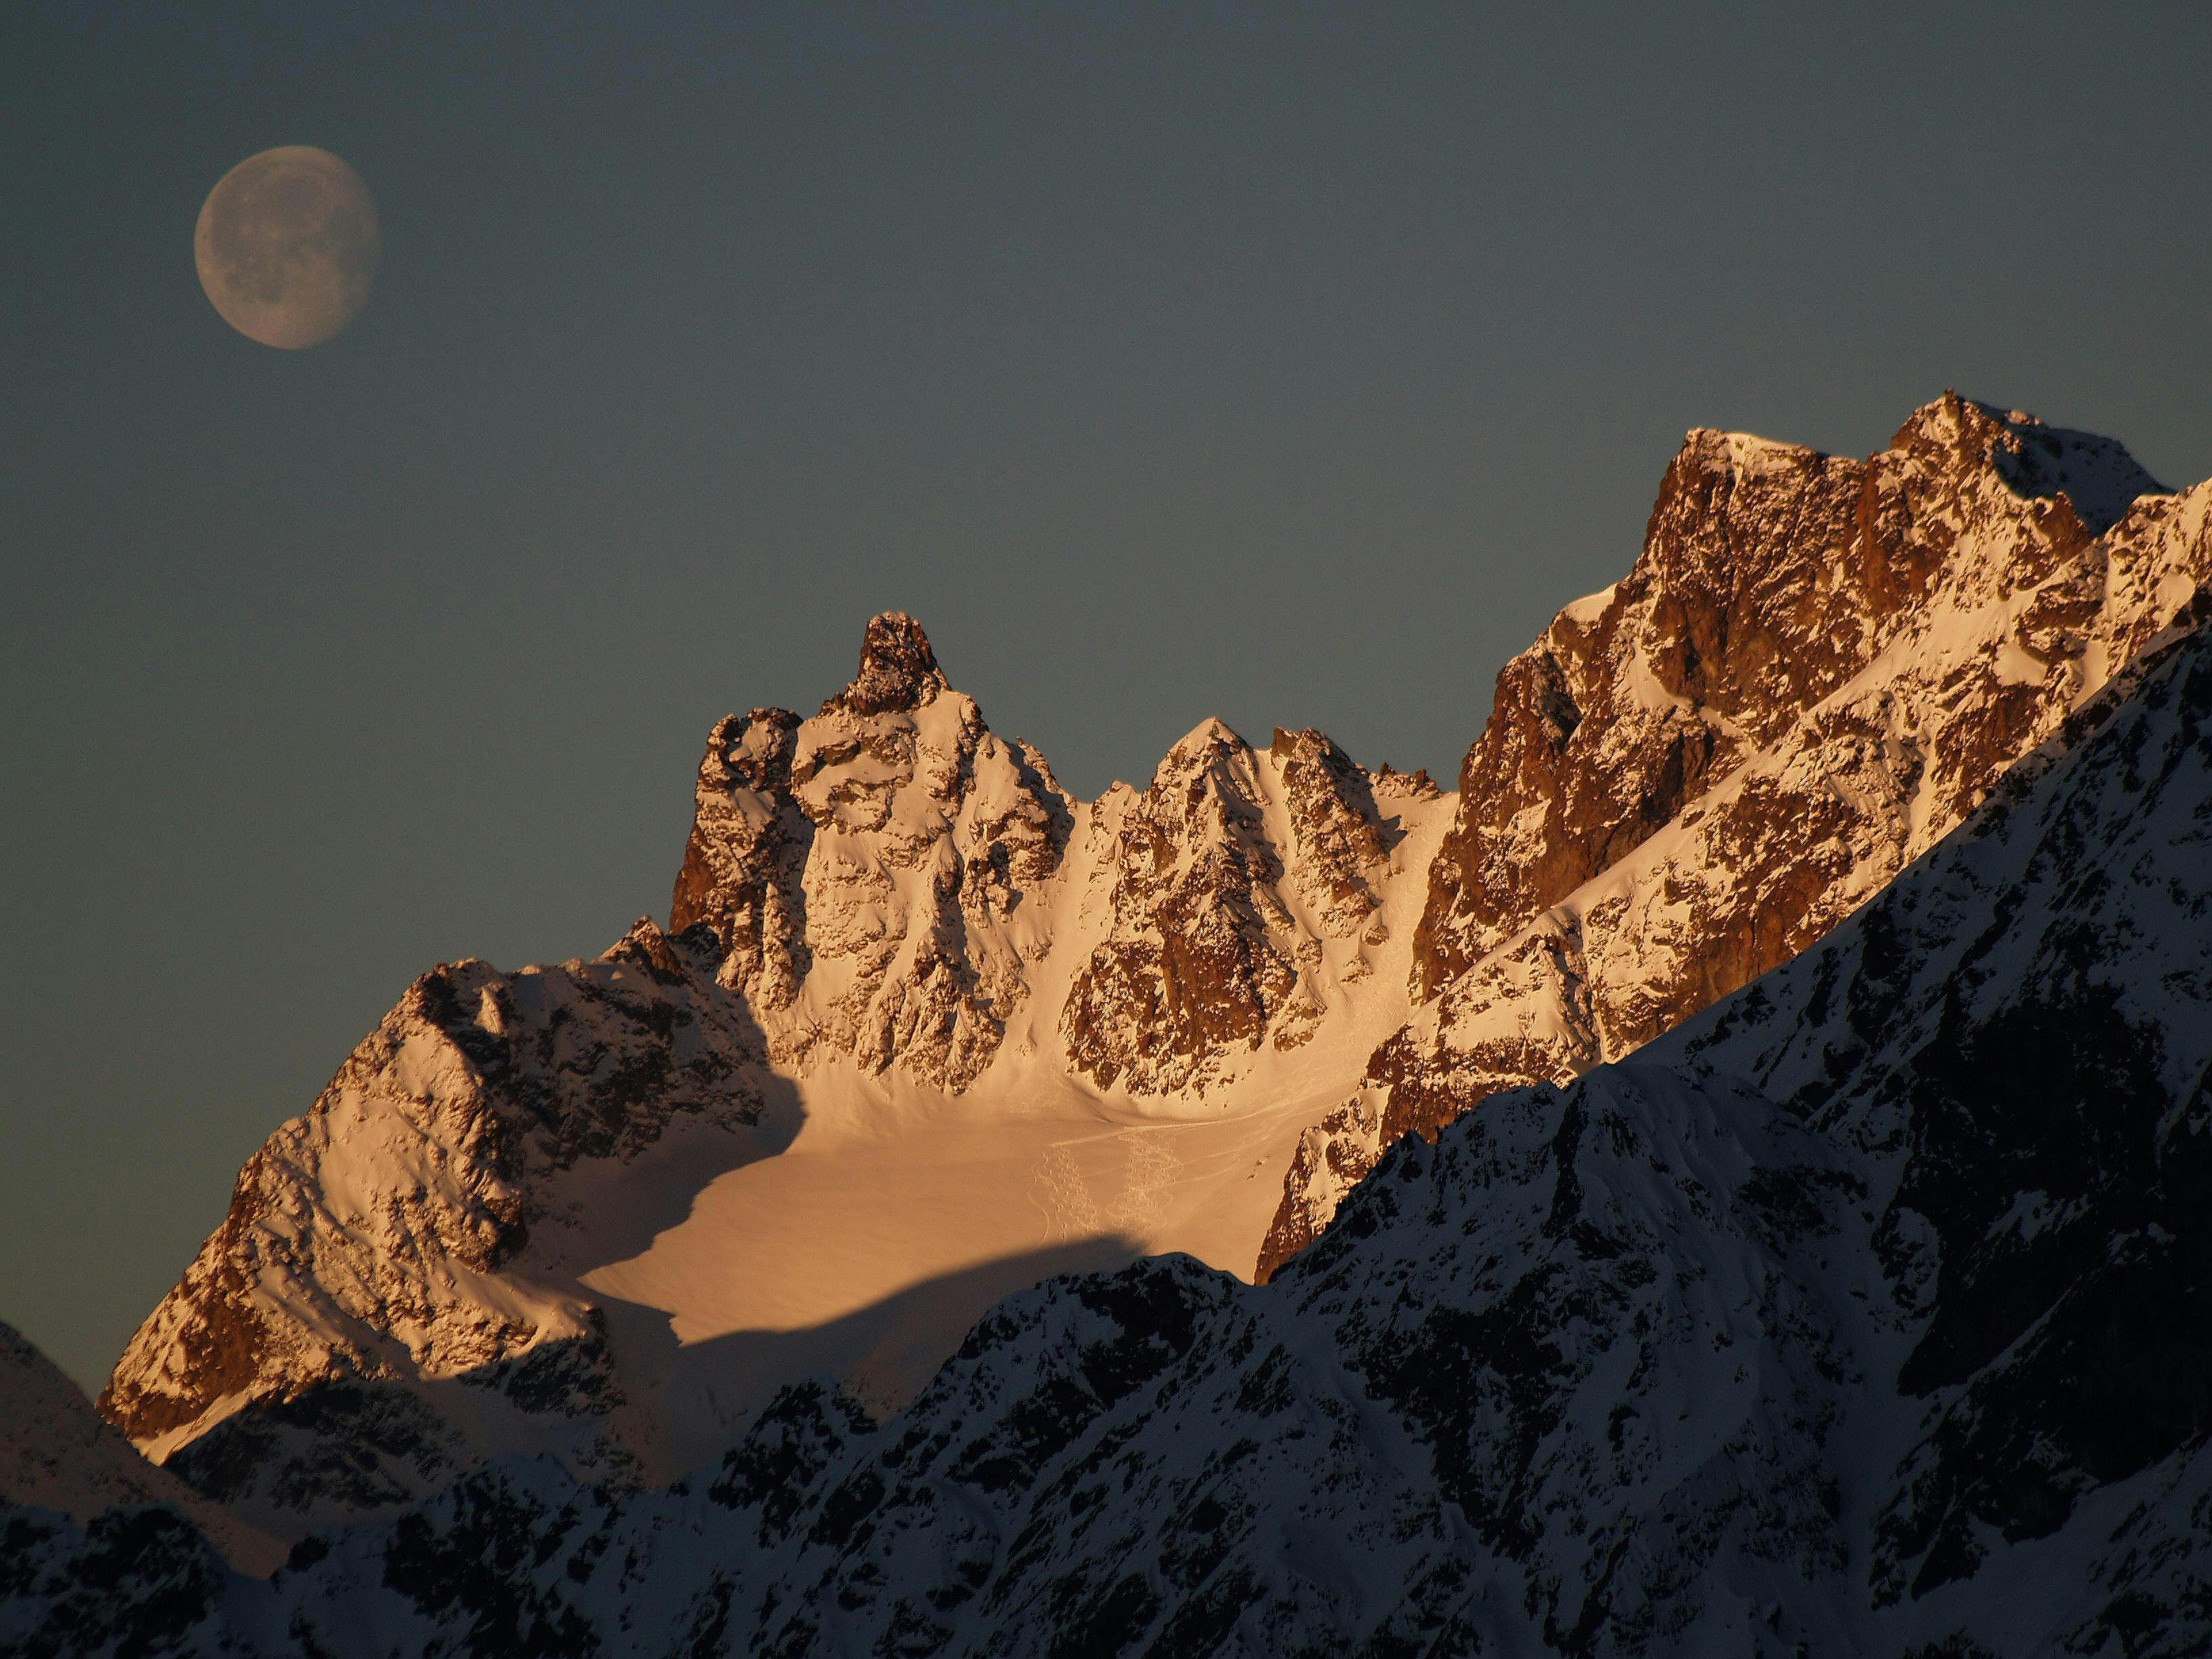
<svg viewBox="0 0 2212 1659"><path fill-rule="evenodd" d="M1267 1285L1060 1279L880 1425L807 1383L672 1489L500 1460L270 1584L161 1537L88 1608L104 1544L11 1515L0 1639L2194 1655L2208 922L2197 599L1814 949L1400 1141Z"/></svg>

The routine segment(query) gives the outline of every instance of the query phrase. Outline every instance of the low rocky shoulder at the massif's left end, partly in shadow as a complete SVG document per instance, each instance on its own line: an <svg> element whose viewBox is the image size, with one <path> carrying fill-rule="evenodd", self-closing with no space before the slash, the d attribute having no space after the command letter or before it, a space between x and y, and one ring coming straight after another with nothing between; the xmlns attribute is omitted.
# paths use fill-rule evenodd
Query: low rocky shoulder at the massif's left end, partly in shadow
<svg viewBox="0 0 2212 1659"><path fill-rule="evenodd" d="M100 1411L279 1528L469 1462L471 1436L416 1385L551 1416L580 1464L619 1475L593 1298L513 1265L566 1221L555 1175L633 1159L677 1115L759 1119L759 1033L717 960L641 920L595 962L425 973L248 1161Z"/></svg>

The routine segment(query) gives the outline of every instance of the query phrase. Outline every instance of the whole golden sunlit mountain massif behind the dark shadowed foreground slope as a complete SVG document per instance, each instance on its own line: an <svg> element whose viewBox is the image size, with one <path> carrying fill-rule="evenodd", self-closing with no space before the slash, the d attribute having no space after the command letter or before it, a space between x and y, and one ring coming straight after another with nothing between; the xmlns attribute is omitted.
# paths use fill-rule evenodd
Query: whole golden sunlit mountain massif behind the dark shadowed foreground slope
<svg viewBox="0 0 2212 1659"><path fill-rule="evenodd" d="M1458 796L1206 721L1075 801L878 617L714 728L668 931L407 993L102 1409L296 1537L489 1453L666 1482L801 1376L896 1409L1053 1272L1272 1270L1876 894L2212 577L2208 507L1949 396L1869 462L1692 434Z"/></svg>

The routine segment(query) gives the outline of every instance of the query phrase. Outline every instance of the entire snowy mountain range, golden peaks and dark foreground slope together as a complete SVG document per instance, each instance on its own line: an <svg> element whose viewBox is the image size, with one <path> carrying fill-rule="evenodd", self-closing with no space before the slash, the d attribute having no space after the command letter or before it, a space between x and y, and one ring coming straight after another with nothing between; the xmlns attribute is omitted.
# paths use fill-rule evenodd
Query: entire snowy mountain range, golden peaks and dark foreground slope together
<svg viewBox="0 0 2212 1659"><path fill-rule="evenodd" d="M1947 394L1692 431L1455 794L1077 801L876 617L668 927L405 993L113 1429L0 1367L0 1650L2201 1652L2208 584Z"/></svg>

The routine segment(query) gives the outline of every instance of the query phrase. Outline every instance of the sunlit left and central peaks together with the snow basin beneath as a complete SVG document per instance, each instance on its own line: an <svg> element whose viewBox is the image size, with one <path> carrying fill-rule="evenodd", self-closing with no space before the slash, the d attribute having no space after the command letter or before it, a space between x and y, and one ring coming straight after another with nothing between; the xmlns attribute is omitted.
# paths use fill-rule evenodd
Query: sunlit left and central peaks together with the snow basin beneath
<svg viewBox="0 0 2212 1659"><path fill-rule="evenodd" d="M1296 1133L1411 1009L1447 810L1219 721L1073 801L876 617L816 717L710 734L675 931L418 980L102 1409L299 1535L489 1451L670 1480L807 1371L902 1402L1051 1272L1250 1267Z"/></svg>

